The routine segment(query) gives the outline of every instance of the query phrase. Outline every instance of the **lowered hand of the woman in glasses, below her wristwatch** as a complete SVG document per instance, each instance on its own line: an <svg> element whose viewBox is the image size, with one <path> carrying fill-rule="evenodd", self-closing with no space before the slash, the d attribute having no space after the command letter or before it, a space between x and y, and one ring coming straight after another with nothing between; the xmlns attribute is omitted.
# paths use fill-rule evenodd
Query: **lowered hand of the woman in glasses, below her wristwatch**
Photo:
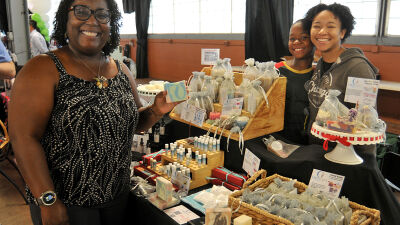
<svg viewBox="0 0 400 225"><path fill-rule="evenodd" d="M61 201L52 206L41 206L43 225L69 225L67 208Z"/></svg>

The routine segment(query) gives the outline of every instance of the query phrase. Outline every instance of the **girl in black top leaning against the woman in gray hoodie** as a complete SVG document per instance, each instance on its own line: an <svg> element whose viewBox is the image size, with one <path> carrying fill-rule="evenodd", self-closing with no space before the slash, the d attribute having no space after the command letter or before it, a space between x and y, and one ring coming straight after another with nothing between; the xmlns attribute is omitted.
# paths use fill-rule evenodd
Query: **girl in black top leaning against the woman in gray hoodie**
<svg viewBox="0 0 400 225"><path fill-rule="evenodd" d="M306 129L309 104L304 84L312 76L314 57L314 46L304 24L304 19L301 19L290 28L288 48L293 58L275 64L280 74L287 78L284 128L279 134L303 145L308 142Z"/></svg>

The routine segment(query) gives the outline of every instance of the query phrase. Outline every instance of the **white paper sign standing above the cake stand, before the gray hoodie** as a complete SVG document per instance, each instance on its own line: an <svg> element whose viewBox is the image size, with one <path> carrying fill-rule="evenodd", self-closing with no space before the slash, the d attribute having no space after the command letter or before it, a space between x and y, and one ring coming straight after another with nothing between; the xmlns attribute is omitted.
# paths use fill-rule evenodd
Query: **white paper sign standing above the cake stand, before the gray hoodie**
<svg viewBox="0 0 400 225"><path fill-rule="evenodd" d="M378 86L379 80L349 77L344 101L375 107Z"/></svg>

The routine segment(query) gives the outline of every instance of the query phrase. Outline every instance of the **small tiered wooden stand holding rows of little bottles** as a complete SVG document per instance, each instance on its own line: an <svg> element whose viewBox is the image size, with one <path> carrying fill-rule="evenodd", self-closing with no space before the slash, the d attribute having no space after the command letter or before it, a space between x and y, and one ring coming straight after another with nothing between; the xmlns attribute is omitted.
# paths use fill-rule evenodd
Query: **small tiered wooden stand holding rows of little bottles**
<svg viewBox="0 0 400 225"><path fill-rule="evenodd" d="M190 160L190 164L189 166L187 166L190 169L190 173L192 175L189 190L208 184L209 181L207 180L207 177L211 177L212 169L219 166L224 166L223 151L201 151L200 149L195 148L193 145L188 144L184 139L178 140L177 143L178 145L183 145L184 148L191 148L192 152L199 151L200 154L207 155L206 165L199 165L194 159ZM163 153L161 155L161 163L157 165L156 169L151 169L150 166L148 166L147 169L153 171L159 176L170 180L170 178L168 178L165 174L161 173L161 167L173 162L179 162L176 156L171 156L170 154ZM179 163L186 165L186 159Z"/></svg>

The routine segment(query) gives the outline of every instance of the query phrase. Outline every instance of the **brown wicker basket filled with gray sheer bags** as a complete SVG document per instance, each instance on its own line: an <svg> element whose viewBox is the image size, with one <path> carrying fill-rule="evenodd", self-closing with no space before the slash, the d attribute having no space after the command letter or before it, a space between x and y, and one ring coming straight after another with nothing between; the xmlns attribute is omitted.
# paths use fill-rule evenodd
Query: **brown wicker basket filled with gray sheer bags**
<svg viewBox="0 0 400 225"><path fill-rule="evenodd" d="M229 206L233 209L233 211L236 211L233 213L232 218L236 218L236 217L244 214L244 215L247 215L247 216L250 216L253 218L253 225L258 225L258 224L293 225L293 223L287 219L273 215L271 213L268 213L265 210L259 209L248 203L244 203L244 202L240 201L239 197L242 195L245 188L249 188L250 190L253 191L256 188L268 187L268 185L270 183L272 183L274 181L274 179L277 177L284 181L291 180L290 178L283 177L278 174L274 174L272 176L266 177L266 174L267 174L267 172L265 170L258 171L243 184L242 190L234 192L229 197ZM259 176L261 176L261 179L259 179L255 183L253 183ZM253 184L251 184L251 183L253 183ZM298 182L298 181L294 184L294 186L297 188L297 190L300 193L304 192L305 189L307 188L306 184ZM351 201L349 201L349 204L350 204L351 209L353 210L350 225L357 225L358 218L361 215L365 215L367 217L367 220L365 220L363 223L361 223L361 225L368 225L368 224L376 225L376 224L380 223L380 211L379 210L370 209L363 205L359 205L359 204L351 202Z"/></svg>

